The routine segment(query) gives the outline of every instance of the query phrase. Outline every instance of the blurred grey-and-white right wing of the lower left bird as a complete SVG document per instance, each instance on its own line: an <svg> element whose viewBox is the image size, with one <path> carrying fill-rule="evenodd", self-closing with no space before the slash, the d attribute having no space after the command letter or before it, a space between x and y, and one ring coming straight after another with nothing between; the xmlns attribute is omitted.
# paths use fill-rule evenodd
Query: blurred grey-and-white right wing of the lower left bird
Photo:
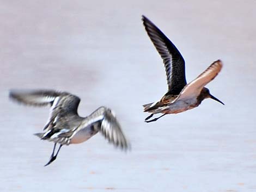
<svg viewBox="0 0 256 192"><path fill-rule="evenodd" d="M84 122L86 125L83 125L83 127L90 123L101 122L99 123L99 131L108 139L109 143L113 143L115 146L123 148L124 150L129 148L129 143L111 109L100 107L90 114Z"/></svg>

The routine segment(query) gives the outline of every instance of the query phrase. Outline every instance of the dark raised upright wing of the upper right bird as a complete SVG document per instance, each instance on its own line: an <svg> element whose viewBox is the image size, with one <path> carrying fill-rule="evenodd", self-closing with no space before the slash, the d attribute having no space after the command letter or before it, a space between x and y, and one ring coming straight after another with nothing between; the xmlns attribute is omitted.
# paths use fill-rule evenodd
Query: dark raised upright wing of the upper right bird
<svg viewBox="0 0 256 192"><path fill-rule="evenodd" d="M145 16L142 16L142 21L149 38L163 59L164 67L166 68L168 94L179 95L180 91L187 84L185 61L175 45L153 22Z"/></svg>

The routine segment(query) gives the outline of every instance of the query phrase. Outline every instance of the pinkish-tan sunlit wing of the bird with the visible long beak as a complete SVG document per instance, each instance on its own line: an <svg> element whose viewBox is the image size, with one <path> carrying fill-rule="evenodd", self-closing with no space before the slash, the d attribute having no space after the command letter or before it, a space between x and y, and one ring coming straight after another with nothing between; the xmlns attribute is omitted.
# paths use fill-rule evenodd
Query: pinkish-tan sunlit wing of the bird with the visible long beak
<svg viewBox="0 0 256 192"><path fill-rule="evenodd" d="M214 61L214 63L212 63L203 73L185 86L176 100L197 97L204 86L218 75L222 66L223 64L221 60Z"/></svg>

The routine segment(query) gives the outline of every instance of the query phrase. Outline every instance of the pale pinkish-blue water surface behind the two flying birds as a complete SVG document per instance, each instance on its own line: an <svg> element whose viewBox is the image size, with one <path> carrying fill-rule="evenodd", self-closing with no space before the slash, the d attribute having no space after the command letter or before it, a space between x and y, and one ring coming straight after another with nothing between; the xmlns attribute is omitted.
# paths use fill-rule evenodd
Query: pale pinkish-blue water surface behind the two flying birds
<svg viewBox="0 0 256 192"><path fill-rule="evenodd" d="M256 191L256 1L1 1L0 191ZM142 104L167 90L141 22L148 16L186 60L190 82L212 61L208 88L225 103L144 123ZM63 147L40 141L48 108L9 101L11 88L81 97L78 112L111 107L132 144L97 134Z"/></svg>

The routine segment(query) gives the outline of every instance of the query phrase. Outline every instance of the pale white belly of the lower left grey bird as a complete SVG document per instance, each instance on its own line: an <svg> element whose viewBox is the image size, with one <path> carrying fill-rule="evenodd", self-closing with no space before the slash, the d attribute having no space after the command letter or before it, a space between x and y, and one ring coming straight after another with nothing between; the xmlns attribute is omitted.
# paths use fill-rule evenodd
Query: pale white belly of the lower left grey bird
<svg viewBox="0 0 256 192"><path fill-rule="evenodd" d="M83 143L84 141L87 141L93 135L95 135L97 131L94 131L91 126L88 126L86 128L81 129L78 131L70 140L70 144L80 144Z"/></svg>

